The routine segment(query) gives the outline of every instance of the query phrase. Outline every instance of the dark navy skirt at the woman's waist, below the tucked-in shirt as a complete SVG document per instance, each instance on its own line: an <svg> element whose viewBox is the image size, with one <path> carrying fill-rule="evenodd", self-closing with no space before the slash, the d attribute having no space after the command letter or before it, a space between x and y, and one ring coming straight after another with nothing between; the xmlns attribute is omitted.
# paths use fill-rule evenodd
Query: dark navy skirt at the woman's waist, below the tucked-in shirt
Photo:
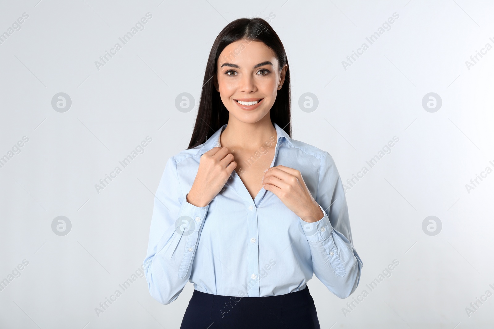
<svg viewBox="0 0 494 329"><path fill-rule="evenodd" d="M235 297L194 290L180 329L321 329L309 287L279 296Z"/></svg>

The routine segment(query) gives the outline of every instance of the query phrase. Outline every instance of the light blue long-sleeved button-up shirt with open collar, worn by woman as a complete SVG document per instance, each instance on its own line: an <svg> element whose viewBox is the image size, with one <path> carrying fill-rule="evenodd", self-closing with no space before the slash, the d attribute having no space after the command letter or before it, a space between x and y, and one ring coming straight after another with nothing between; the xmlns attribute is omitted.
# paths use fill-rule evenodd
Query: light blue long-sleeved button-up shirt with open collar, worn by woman
<svg viewBox="0 0 494 329"><path fill-rule="evenodd" d="M201 155L219 146L226 126L166 162L144 259L151 295L169 304L187 281L218 295L282 295L304 289L315 274L330 292L348 297L359 284L363 263L353 247L343 185L328 152L291 139L274 123L271 167L300 171L324 213L316 222L304 221L264 188L252 200L235 170L207 206L187 202ZM274 142L273 137L267 146ZM251 160L266 153L262 147Z"/></svg>

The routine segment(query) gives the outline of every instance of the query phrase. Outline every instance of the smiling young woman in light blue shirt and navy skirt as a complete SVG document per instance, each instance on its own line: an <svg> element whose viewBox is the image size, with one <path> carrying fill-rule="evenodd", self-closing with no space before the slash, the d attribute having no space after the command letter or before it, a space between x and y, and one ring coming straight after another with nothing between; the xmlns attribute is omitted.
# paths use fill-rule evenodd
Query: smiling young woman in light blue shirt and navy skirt
<svg viewBox="0 0 494 329"><path fill-rule="evenodd" d="M291 139L290 73L261 18L216 37L189 148L154 203L146 280L168 304L194 292L180 328L320 328L307 281L358 286L343 186L328 152Z"/></svg>

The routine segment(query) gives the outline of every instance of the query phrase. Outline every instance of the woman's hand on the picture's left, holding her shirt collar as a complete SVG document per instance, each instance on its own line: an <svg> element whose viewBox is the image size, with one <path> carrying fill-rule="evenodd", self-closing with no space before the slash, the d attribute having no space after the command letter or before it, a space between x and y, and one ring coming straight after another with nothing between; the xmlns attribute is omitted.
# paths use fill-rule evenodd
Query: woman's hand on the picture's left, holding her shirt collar
<svg viewBox="0 0 494 329"><path fill-rule="evenodd" d="M237 162L227 147L213 147L201 155L199 169L189 193L187 202L196 207L205 207L230 178Z"/></svg>

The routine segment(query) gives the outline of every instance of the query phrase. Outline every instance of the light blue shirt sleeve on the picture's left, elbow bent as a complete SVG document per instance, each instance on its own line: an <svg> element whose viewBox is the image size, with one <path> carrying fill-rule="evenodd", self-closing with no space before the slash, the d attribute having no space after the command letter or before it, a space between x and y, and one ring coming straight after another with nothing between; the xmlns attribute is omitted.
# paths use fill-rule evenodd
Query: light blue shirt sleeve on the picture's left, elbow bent
<svg viewBox="0 0 494 329"><path fill-rule="evenodd" d="M175 300L189 280L209 204L187 202L170 157L154 198L144 272L149 292L162 304Z"/></svg>

